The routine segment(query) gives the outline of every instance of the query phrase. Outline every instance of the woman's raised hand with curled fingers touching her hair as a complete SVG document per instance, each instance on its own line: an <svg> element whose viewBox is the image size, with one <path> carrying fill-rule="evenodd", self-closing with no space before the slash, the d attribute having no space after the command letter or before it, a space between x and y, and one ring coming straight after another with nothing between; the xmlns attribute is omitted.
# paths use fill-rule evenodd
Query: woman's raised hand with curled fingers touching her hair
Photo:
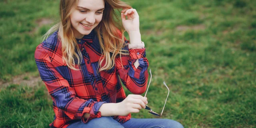
<svg viewBox="0 0 256 128"><path fill-rule="evenodd" d="M126 32L128 32L128 34L130 34L130 32L140 32L140 20L136 9L123 9L121 11L121 19L124 29L126 30Z"/></svg>

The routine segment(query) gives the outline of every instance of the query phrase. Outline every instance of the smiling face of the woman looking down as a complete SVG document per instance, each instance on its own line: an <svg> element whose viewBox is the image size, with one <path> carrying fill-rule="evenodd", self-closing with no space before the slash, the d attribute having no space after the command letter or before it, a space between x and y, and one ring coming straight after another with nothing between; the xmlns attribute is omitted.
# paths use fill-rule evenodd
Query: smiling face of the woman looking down
<svg viewBox="0 0 256 128"><path fill-rule="evenodd" d="M76 38L90 34L102 20L104 0L78 0L70 15L72 30Z"/></svg>

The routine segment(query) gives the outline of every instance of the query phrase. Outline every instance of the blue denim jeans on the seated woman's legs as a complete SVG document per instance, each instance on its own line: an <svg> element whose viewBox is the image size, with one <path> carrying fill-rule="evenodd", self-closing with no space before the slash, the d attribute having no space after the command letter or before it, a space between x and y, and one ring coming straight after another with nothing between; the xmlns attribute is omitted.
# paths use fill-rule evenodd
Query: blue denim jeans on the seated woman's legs
<svg viewBox="0 0 256 128"><path fill-rule="evenodd" d="M183 128L183 126L170 119L137 119L131 118L124 124L120 124L110 116L94 118L88 123L75 122L67 128Z"/></svg>

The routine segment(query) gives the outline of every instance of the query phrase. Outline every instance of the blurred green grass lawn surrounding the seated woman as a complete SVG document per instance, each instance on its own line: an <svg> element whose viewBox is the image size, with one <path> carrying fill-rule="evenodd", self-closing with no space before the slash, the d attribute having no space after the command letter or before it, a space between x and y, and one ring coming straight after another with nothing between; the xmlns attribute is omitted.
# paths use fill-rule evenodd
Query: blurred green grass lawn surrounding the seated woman
<svg viewBox="0 0 256 128"><path fill-rule="evenodd" d="M163 81L170 89L161 118L185 128L256 127L256 0L124 1L140 15L155 112L167 96ZM48 128L54 120L34 51L58 21L58 4L0 0L0 128ZM157 118L147 110L132 116Z"/></svg>

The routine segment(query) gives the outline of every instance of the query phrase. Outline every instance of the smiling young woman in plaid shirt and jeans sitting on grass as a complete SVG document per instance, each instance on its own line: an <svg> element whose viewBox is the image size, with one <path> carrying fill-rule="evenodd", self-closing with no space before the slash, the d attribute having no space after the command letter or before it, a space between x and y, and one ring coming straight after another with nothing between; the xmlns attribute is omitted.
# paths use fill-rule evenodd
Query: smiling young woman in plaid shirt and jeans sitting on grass
<svg viewBox="0 0 256 128"><path fill-rule="evenodd" d="M118 26L114 9L120 8ZM148 60L131 6L120 0L60 0L60 22L45 36L35 60L53 100L52 128L182 128L168 119L131 118L148 103L139 95L146 90ZM132 95L126 97L121 81Z"/></svg>

